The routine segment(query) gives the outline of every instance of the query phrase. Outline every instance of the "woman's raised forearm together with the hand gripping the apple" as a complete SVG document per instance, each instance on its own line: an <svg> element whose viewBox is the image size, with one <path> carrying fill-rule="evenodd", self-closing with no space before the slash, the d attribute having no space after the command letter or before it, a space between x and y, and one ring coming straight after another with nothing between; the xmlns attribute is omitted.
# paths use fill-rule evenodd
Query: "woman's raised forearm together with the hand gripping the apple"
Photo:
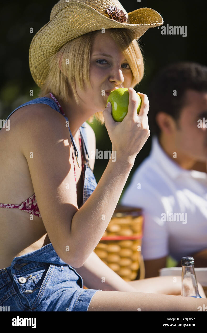
<svg viewBox="0 0 207 333"><path fill-rule="evenodd" d="M75 246L81 251L81 254L78 255L79 258L76 258L78 262L82 256L82 261L79 261L82 262L80 266L92 253L106 230L135 158L150 135L147 96L140 94L142 106L138 116L137 94L130 89L129 94L128 113L121 123L113 120L111 108L106 108L103 111L105 125L112 142L112 151L116 152L116 161L109 160L97 187L72 218L71 234L75 235ZM140 123L139 127L138 122ZM123 133L125 133L124 136Z"/></svg>

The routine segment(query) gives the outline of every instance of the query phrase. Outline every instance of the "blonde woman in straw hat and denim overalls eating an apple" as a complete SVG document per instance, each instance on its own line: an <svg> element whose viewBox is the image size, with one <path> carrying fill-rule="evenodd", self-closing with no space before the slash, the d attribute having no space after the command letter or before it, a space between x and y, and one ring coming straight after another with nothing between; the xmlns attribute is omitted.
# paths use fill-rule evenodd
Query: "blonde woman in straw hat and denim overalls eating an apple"
<svg viewBox="0 0 207 333"><path fill-rule="evenodd" d="M131 23L123 23L127 16ZM148 98L139 93L137 115L132 88L144 75L136 40L162 22L148 8L127 14L118 1L109 7L96 1L93 8L92 2L61 0L33 38L29 60L39 98L14 110L7 118L10 131L0 132L1 306L11 311L197 311L207 305L204 299L157 294L180 294L180 278L127 283L93 252L150 135ZM111 105L105 106L109 92L121 87L129 88L129 108L116 123ZM109 160L98 184L95 161L89 160L95 135L86 123L93 116L105 122L116 151L116 162ZM89 289L83 289L81 276Z"/></svg>

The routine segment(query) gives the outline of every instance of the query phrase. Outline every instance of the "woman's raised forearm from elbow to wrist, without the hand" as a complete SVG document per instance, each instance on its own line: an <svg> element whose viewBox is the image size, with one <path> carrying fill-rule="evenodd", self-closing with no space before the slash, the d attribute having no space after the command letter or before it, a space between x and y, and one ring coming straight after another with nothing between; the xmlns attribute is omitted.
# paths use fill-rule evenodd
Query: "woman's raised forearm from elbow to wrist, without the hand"
<svg viewBox="0 0 207 333"><path fill-rule="evenodd" d="M124 158L109 160L95 190L74 214L70 239L77 262L84 263L103 236L132 167Z"/></svg>

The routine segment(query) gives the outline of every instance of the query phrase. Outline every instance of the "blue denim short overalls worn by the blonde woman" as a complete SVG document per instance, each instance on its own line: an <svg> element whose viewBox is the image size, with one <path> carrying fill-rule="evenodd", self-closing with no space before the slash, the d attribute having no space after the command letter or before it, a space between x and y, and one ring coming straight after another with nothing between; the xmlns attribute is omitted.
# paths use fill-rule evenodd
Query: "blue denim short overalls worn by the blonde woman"
<svg viewBox="0 0 207 333"><path fill-rule="evenodd" d="M40 97L22 104L19 108L36 103L48 104L58 111L50 98ZM63 116L67 121L68 118ZM78 152L70 128L74 151ZM85 123L79 128L84 157L83 204L97 183L88 165ZM75 161L76 163L76 161ZM0 311L87 311L93 295L101 289L83 289L83 279L55 252L52 243L12 260L11 266L0 269Z"/></svg>

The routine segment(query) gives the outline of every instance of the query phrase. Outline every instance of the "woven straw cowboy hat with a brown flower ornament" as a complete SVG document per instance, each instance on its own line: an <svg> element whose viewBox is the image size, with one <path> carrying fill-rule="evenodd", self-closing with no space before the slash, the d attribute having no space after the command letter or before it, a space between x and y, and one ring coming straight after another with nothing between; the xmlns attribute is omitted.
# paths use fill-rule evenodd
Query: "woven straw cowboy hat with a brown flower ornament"
<svg viewBox="0 0 207 333"><path fill-rule="evenodd" d="M139 8L127 13L118 0L60 0L52 8L50 21L33 37L29 50L32 77L39 87L49 72L49 58L68 41L103 28L126 28L139 39L149 28L163 24L159 13Z"/></svg>

